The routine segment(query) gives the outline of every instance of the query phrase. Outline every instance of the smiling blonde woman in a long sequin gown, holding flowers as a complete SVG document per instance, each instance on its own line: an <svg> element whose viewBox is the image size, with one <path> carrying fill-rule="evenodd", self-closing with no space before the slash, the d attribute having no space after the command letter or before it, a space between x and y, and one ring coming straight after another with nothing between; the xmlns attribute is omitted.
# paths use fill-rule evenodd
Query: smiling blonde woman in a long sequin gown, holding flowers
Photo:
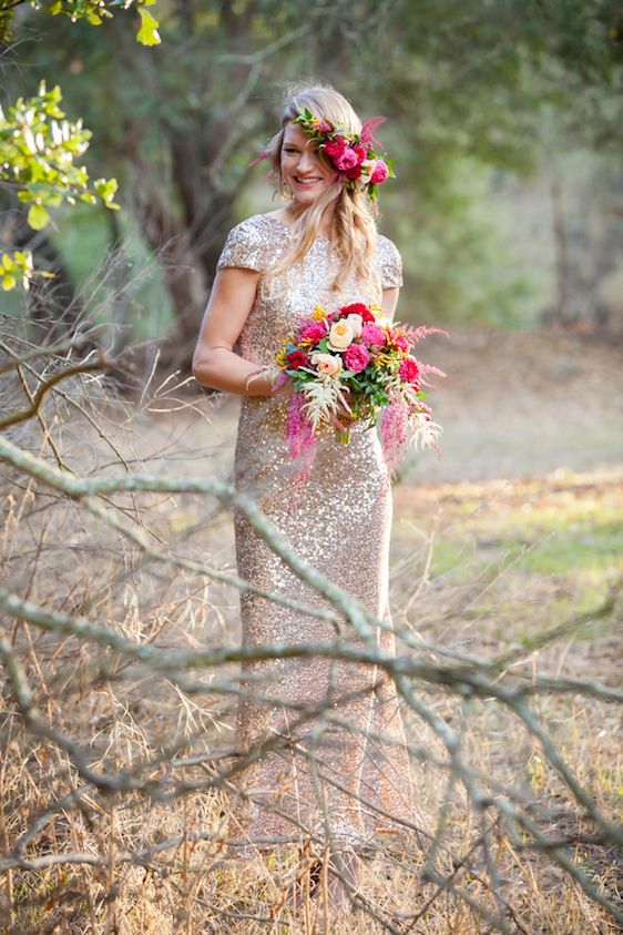
<svg viewBox="0 0 623 935"><path fill-rule="evenodd" d="M205 386L243 397L237 487L256 497L298 556L389 623L391 495L376 434L354 424L350 444L340 445L326 431L309 477L297 484L285 440L288 390L274 393L273 379L262 372L274 364L295 319L318 304L334 311L378 303L389 318L396 308L401 260L376 231L375 164L366 166L367 183L354 183L354 172L336 169L318 141L318 132L321 143L321 133L336 129L346 141L362 130L341 94L327 87L290 89L282 128L265 151L286 206L231 231L193 373ZM380 163L377 181L387 174ZM344 429L348 413L343 408L333 420ZM327 607L239 516L235 532L244 579L316 609ZM243 594L241 604L246 647L336 638L331 623L255 593ZM377 640L392 651L390 632L379 630ZM254 750L270 741L273 749L243 773L231 836L266 847L328 833L330 841L359 848L374 835L396 831L400 820L413 821L396 692L379 671L327 659L273 660L245 665L243 675L238 743ZM316 714L302 719L300 704ZM323 710L337 712L340 722L323 718ZM378 734L394 743L379 742Z"/></svg>

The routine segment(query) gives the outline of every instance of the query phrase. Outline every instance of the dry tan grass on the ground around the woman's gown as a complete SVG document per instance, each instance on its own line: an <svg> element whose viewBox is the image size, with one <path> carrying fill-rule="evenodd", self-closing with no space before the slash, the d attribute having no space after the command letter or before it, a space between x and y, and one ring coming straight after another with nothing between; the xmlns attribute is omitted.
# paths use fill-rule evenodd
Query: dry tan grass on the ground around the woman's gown
<svg viewBox="0 0 623 935"><path fill-rule="evenodd" d="M172 393L152 396L142 410L113 399L104 405L101 387L80 400L95 425L55 398L41 421L13 437L81 476L119 472L121 464L134 472L227 472L229 454L211 435L210 406L207 415L183 409L163 419L150 409L174 405ZM197 438L210 444L200 447ZM106 501L170 556L234 572L231 519L214 499L114 494ZM502 680L547 673L615 687L621 602L604 602L621 573L622 514L614 468L512 484L398 486L391 565L398 632L420 640L422 661L433 665L456 662L457 653L508 657ZM149 559L81 504L12 470L4 474L3 515L3 567L21 598L81 614L135 643L236 644L234 588ZM134 787L106 793L89 784L67 750L27 729L6 683L3 855L29 837L23 865L6 870L0 883L2 933L480 935L493 931L490 917L509 932L616 931L550 853L531 846L510 812L474 807L448 768L439 732L409 709L422 833L361 858L360 908L341 913L328 905L329 881L310 874L313 852L243 862L224 846L228 800L217 758L234 743L234 667L195 671L184 690L75 637L19 619L6 626L44 722L86 751L92 770L125 770ZM494 697L430 682L416 689L460 738L483 792L511 803L547 836L569 839L563 856L616 902L613 845L596 834L517 712ZM622 776L612 702L543 692L530 708L613 821ZM79 855L74 863L71 854Z"/></svg>

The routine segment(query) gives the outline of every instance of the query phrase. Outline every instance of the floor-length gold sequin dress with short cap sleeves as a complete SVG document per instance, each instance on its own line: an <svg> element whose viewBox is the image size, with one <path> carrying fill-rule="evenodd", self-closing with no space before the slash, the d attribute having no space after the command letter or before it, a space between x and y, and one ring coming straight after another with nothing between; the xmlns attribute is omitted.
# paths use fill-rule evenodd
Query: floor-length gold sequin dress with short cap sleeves
<svg viewBox="0 0 623 935"><path fill-rule="evenodd" d="M265 273L290 236L290 228L274 215L249 217L229 232L217 268L242 266ZM295 319L309 316L317 304L327 311L351 302L380 304L381 288L402 284L400 254L381 235L372 284L349 282L337 295L331 289L335 262L330 241L318 237L286 274L280 297L266 297L258 287L236 352L258 365L272 364ZM327 430L312 475L302 486L286 446L286 408L283 397L243 397L236 486L256 497L303 559L389 623L391 489L377 435L355 426L350 444L340 445L333 429ZM313 608L328 607L241 516L235 536L244 579ZM242 596L241 608L245 647L336 637L331 623L253 593ZM378 631L377 640L394 652L390 632ZM246 794L233 797L228 835L249 842L243 852L255 846L267 850L277 839L324 835L327 826L334 835L356 843L390 830L390 816L415 820L396 691L379 670L324 658L268 660L243 667L242 684L251 695L264 697L242 698L238 705L237 746L262 754L236 780ZM328 708L344 723L331 723L321 714L300 721L296 705ZM394 742L379 741L379 734ZM280 743L284 738L293 741L289 749ZM275 741L280 746L276 751L262 752L257 746Z"/></svg>

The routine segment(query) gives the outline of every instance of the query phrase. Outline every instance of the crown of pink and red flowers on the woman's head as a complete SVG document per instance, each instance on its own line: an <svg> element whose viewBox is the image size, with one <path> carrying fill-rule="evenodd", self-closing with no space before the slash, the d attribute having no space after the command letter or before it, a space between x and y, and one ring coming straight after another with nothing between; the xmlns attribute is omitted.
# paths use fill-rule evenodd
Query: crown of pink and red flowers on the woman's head
<svg viewBox="0 0 623 935"><path fill-rule="evenodd" d="M365 191L372 204L377 200L377 186L396 177L392 160L381 159L375 151L379 144L374 132L385 122L385 116L366 121L360 133L347 133L327 120L313 116L307 109L299 110L292 122L318 143L318 149L334 166L336 177L350 189Z"/></svg>

